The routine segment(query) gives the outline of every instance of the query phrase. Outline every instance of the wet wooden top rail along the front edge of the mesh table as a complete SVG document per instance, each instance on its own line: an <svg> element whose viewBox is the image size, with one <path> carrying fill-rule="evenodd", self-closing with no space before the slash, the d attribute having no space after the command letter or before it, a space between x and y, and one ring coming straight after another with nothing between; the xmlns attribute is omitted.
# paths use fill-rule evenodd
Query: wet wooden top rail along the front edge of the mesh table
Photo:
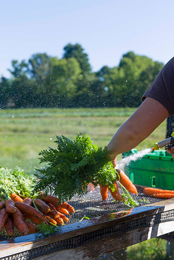
<svg viewBox="0 0 174 260"><path fill-rule="evenodd" d="M120 212L84 220L82 222L61 226L58 233L48 238L43 238L42 235L39 234L31 234L9 241L2 241L0 242L0 258L83 235L102 228L115 226L150 215L155 215L157 213L171 209L174 209L174 199L167 199L161 202L149 204L147 206L140 206L131 210L123 210Z"/></svg>

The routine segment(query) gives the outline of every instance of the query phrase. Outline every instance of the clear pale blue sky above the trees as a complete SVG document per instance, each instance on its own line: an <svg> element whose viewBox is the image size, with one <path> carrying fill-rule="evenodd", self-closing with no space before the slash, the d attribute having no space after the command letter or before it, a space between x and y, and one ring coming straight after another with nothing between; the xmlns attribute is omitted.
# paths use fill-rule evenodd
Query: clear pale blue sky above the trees
<svg viewBox="0 0 174 260"><path fill-rule="evenodd" d="M167 63L174 56L173 0L0 1L0 75L35 53L62 58L79 43L93 71L133 51Z"/></svg>

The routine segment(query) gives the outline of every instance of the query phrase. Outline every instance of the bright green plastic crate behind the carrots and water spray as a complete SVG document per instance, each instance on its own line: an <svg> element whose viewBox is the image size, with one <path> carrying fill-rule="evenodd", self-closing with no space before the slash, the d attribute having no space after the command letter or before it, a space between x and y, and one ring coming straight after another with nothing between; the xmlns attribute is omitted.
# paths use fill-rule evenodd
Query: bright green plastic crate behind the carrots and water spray
<svg viewBox="0 0 174 260"><path fill-rule="evenodd" d="M137 149L132 149L122 156L137 152ZM134 184L174 190L174 158L166 150L153 151L136 161L131 161L124 167L124 172Z"/></svg>

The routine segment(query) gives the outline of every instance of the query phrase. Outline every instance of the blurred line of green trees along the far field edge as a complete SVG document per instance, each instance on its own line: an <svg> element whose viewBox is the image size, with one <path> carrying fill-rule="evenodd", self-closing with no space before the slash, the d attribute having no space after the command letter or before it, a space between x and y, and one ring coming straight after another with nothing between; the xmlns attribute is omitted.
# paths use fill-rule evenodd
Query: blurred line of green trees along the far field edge
<svg viewBox="0 0 174 260"><path fill-rule="evenodd" d="M0 78L0 108L137 107L163 66L128 52L118 66L93 72L82 46L68 44L61 59L12 61L10 77Z"/></svg>

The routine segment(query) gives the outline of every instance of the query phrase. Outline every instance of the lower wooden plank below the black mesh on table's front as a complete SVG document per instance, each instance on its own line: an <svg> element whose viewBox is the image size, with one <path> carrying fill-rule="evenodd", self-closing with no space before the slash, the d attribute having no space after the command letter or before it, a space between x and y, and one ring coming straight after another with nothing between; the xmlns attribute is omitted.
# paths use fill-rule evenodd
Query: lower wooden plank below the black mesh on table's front
<svg viewBox="0 0 174 260"><path fill-rule="evenodd" d="M172 227L171 227L172 226ZM68 249L45 255L35 260L91 260L103 255L115 252L125 247L159 237L165 232L174 231L174 225L170 222L161 223L150 228L140 228L120 235L108 236L107 238L92 241L79 248Z"/></svg>

